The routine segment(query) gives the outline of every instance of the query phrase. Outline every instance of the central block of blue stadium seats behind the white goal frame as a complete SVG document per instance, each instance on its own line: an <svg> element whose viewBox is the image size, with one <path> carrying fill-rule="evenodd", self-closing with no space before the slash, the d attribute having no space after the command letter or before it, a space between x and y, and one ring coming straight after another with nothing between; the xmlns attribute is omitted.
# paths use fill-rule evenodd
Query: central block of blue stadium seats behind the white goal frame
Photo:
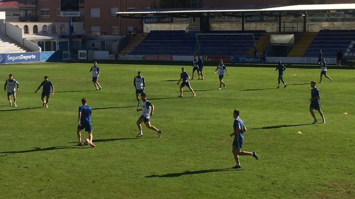
<svg viewBox="0 0 355 199"><path fill-rule="evenodd" d="M196 37L189 37L184 30L153 30L130 54L195 55L200 47L201 55L247 56L263 33L264 30L211 31L209 35L198 35L197 42Z"/></svg>

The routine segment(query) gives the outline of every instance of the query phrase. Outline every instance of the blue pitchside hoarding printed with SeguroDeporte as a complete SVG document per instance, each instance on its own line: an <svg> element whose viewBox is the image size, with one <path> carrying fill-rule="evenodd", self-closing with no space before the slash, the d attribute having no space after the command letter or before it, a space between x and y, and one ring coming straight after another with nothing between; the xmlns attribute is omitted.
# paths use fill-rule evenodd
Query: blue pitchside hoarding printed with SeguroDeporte
<svg viewBox="0 0 355 199"><path fill-rule="evenodd" d="M40 62L40 52L6 53L0 54L0 64Z"/></svg>

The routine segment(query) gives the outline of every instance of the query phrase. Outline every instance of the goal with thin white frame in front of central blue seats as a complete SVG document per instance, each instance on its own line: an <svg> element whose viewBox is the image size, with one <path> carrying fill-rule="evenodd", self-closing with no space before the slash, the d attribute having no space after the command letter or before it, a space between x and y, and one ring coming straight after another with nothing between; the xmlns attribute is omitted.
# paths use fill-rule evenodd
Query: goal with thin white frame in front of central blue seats
<svg viewBox="0 0 355 199"><path fill-rule="evenodd" d="M256 46L255 36L249 34L196 34L195 55L247 56Z"/></svg>

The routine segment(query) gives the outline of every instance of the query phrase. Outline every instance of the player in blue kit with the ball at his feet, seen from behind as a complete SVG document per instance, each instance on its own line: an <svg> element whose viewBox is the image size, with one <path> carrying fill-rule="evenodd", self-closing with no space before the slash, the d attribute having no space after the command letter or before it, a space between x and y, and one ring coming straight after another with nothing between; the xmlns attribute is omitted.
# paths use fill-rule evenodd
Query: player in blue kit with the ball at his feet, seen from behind
<svg viewBox="0 0 355 199"><path fill-rule="evenodd" d="M81 99L81 104L82 106L79 107L79 113L78 113L78 129L77 129L77 135L78 135L78 144L77 146L81 146L81 130L85 129L86 132L89 133L89 144L91 147L95 147L95 144L92 143L92 127L91 127L91 119L90 116L92 114L91 107L87 106L87 99L82 98Z"/></svg>

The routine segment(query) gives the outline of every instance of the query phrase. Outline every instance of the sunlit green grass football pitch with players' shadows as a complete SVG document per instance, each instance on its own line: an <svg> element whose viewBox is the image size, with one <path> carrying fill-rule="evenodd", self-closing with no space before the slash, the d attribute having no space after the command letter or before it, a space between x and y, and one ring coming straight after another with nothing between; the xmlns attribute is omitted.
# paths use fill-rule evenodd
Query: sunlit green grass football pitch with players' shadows
<svg viewBox="0 0 355 199"><path fill-rule="evenodd" d="M101 91L90 63L1 66L0 81L11 73L20 91L17 107L6 92L0 98L0 198L355 198L355 70L328 69L333 83L317 84L326 123L315 111L311 125L310 81L320 69L286 66L288 87L276 89L275 68L225 65L226 89L206 66L205 80L190 81L195 98L186 87L177 97L181 66L99 62ZM135 137L137 70L160 138L144 124ZM55 87L48 108L42 88L34 93L45 75ZM76 146L83 97L95 148ZM242 150L259 156L240 156L241 169L231 169L234 109L247 127Z"/></svg>

